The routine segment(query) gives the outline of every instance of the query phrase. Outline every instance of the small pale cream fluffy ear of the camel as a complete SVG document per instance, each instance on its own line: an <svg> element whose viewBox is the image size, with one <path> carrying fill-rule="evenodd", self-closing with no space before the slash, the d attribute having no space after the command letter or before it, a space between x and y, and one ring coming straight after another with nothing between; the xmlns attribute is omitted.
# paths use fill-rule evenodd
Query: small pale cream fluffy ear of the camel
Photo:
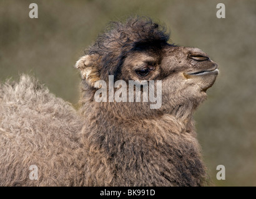
<svg viewBox="0 0 256 199"><path fill-rule="evenodd" d="M84 55L75 65L81 72L82 79L86 80L88 85L94 87L94 83L100 80L99 71L96 68L96 55Z"/></svg>

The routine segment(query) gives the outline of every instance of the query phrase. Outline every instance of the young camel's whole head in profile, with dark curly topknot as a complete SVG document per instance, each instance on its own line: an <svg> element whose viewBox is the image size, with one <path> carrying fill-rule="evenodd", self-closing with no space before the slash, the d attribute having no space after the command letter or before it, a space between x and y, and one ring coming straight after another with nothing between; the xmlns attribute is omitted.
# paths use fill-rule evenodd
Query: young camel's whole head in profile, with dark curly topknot
<svg viewBox="0 0 256 199"><path fill-rule="evenodd" d="M77 61L76 68L81 70L86 90L94 99L96 94L100 96L99 107L117 117L171 114L186 118L204 101L219 70L202 50L168 41L165 28L148 18L114 22ZM107 92L99 92L101 89Z"/></svg>

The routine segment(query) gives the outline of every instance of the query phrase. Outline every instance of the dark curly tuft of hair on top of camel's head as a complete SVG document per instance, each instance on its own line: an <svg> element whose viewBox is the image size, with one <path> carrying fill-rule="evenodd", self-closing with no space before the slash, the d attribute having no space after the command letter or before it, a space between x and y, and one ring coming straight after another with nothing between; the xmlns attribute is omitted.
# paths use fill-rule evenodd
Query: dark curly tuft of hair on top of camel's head
<svg viewBox="0 0 256 199"><path fill-rule="evenodd" d="M116 77L120 73L124 58L130 52L161 49L167 44L169 35L164 25L152 22L147 17L131 17L126 22L111 22L87 53L101 57L98 68L101 75Z"/></svg>

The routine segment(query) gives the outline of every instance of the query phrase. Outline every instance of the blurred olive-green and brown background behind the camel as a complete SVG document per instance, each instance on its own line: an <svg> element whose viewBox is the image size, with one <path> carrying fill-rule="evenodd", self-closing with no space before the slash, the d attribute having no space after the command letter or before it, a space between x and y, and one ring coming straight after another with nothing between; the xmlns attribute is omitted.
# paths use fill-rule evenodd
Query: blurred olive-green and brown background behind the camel
<svg viewBox="0 0 256 199"><path fill-rule="evenodd" d="M39 18L29 18L37 3ZM172 42L198 47L220 75L195 114L199 142L217 186L256 186L256 1L0 1L0 81L36 76L76 106L79 73L72 68L107 22L150 16L171 30ZM217 180L217 165L226 180Z"/></svg>

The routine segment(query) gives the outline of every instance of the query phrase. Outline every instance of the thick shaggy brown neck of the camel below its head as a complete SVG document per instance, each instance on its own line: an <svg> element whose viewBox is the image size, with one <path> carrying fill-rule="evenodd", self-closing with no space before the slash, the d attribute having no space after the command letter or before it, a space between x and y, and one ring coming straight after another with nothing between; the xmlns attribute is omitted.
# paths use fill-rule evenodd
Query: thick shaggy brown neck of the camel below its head
<svg viewBox="0 0 256 199"><path fill-rule="evenodd" d="M91 174L88 185L196 186L205 177L192 121L186 128L166 114L134 123L99 113L89 118L83 140L90 159L85 169ZM104 177L96 165L107 171Z"/></svg>

